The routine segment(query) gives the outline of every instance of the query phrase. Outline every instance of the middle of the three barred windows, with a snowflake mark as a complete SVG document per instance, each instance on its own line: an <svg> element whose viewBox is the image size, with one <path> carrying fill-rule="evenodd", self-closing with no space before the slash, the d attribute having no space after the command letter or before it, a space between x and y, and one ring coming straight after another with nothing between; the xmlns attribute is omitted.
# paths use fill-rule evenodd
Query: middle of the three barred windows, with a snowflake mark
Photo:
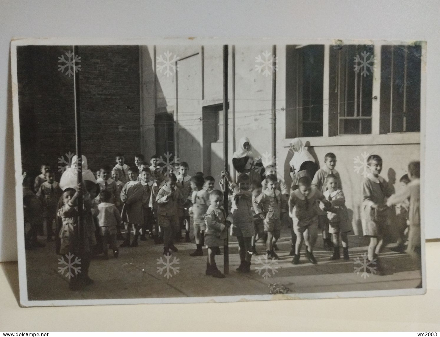
<svg viewBox="0 0 440 337"><path fill-rule="evenodd" d="M371 133L373 75L373 46L330 46L329 136Z"/></svg>

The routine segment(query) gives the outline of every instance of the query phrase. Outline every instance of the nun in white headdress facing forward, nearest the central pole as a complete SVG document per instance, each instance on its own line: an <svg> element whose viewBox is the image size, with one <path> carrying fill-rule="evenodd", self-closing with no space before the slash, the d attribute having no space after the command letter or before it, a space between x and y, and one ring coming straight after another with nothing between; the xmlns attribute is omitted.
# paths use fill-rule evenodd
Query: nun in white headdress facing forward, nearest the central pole
<svg viewBox="0 0 440 337"><path fill-rule="evenodd" d="M238 173L248 174L251 182L261 182L264 177L264 167L261 163L261 159L254 159L249 138L242 137L239 147L232 157L232 166L234 166Z"/></svg>

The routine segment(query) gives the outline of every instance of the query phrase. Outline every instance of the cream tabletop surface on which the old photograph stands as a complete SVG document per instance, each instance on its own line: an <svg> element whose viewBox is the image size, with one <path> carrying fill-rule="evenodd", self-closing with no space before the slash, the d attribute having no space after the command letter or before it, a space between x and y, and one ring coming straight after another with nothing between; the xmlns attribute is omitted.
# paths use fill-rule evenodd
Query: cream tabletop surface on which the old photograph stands
<svg viewBox="0 0 440 337"><path fill-rule="evenodd" d="M16 263L0 266L0 331L439 331L440 242L426 244L422 296L83 307L18 306Z"/></svg>

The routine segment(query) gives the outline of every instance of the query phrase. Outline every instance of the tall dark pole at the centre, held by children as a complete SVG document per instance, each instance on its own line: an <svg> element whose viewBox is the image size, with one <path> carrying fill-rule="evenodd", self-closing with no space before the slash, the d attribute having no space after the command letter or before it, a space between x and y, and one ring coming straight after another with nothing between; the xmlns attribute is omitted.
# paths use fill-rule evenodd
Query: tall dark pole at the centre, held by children
<svg viewBox="0 0 440 337"><path fill-rule="evenodd" d="M224 171L228 171L228 159L227 159L227 61L228 61L228 46L225 44L223 46L223 160L224 160ZM227 209L227 200L229 195L229 185L224 179L224 195L223 195L223 208L226 214L229 213ZM229 233L224 240L223 246L223 259L224 259L224 274L229 274Z"/></svg>

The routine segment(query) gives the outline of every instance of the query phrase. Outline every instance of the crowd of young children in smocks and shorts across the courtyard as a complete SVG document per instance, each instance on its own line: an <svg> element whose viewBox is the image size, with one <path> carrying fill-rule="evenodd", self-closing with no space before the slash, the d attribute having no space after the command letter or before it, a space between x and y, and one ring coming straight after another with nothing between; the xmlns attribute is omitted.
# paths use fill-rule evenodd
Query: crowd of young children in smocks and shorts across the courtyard
<svg viewBox="0 0 440 337"><path fill-rule="evenodd" d="M267 256L279 259L277 241L280 237L283 216L291 218L292 230L292 263L300 263L301 246L306 245L305 257L311 263L317 263L313 255L318 231L323 232L324 242L331 241L333 255L330 260L348 260L348 235L351 223L345 207L345 196L342 192L341 178L335 170L336 156L327 153L324 166L313 179L304 176L297 186L290 191L285 182L276 173L276 167L265 167L263 181L251 179L249 174L242 173L233 182L230 174L222 172L220 190L215 189L215 179L202 172L188 175L189 165L180 162L175 167L159 166L159 158L154 155L150 163L145 162L143 155L135 156L136 167L125 164L124 156L116 156L113 169L103 166L96 171L96 183L84 181L76 189L62 191L55 181L55 174L50 167L43 165L41 174L35 179L36 198L40 200L45 218L48 241L55 235L59 238L59 253L91 252L98 242L99 252L108 259L108 245L114 257L119 255L117 239L123 240L120 247L136 247L138 240L154 239L154 244L163 244L163 254L177 252L175 242L183 239L191 241L190 228L193 227L196 250L190 256L203 256L203 246L208 252L206 275L224 278L216 267L215 256L224 245L227 230L238 241L240 265L236 269L249 273L252 255L258 255L255 243L262 238L266 244ZM405 218L405 226L400 226L398 248L405 242L405 230L408 218L410 228L411 251L417 252L420 247L419 197L417 196L420 163L412 162L408 167L407 184L404 193L392 195L392 189L381 178L382 159L372 155L367 159L369 174L362 183L361 218L363 234L370 238L368 259L377 259L384 243L387 229L387 211L392 205L398 205L398 215ZM402 178L401 181L404 181ZM25 186L25 185L24 185ZM36 209L35 198L29 187L25 187L25 218L28 212ZM409 192L408 192L409 191ZM228 212L225 211L224 193L228 194ZM30 202L29 202L30 196ZM78 234L77 200L84 200L84 228ZM410 198L411 196L411 198ZM408 199L410 201L408 201ZM33 200L33 202L32 202ZM32 208L33 207L33 208ZM28 215L29 219L30 214ZM52 224L61 219L57 230ZM39 222L36 220L34 222ZM95 226L96 225L96 226ZM32 226L31 226L32 227ZM125 227L125 236L122 229ZM36 227L35 227L36 228ZM29 247L37 242L36 229L29 234ZM131 231L134 238L131 240ZM79 235L79 236L78 236ZM78 237L80 239L78 239ZM32 244L33 242L33 244ZM81 249L79 249L79 247ZM417 248L418 247L418 248ZM85 261L89 261L85 256ZM88 267L86 268L88 270ZM377 263L378 274L383 274L381 263ZM72 289L92 283L87 273L77 283L71 283Z"/></svg>

